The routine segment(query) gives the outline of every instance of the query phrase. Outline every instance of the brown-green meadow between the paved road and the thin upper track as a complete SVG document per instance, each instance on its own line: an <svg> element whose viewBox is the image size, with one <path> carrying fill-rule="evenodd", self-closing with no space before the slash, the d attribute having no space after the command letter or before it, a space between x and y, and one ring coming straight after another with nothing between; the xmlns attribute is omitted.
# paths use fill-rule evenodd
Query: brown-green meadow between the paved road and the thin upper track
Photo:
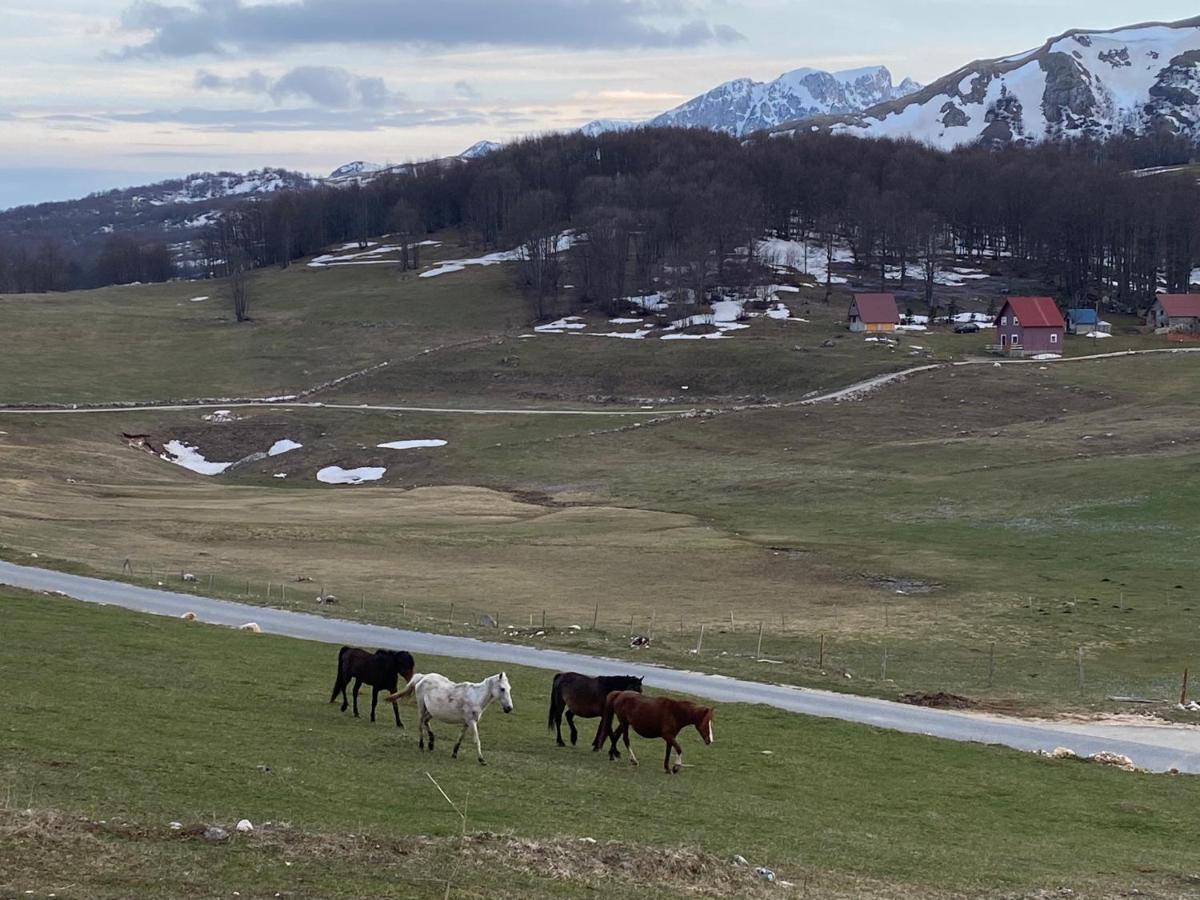
<svg viewBox="0 0 1200 900"><path fill-rule="evenodd" d="M206 593L248 582L252 601L270 582L271 602L299 608L324 588L342 614L388 624L606 654L649 634L640 656L756 678L1106 709L1109 696L1177 697L1196 664L1180 547L1198 538L1198 382L1192 358L1166 354L964 367L862 402L637 427L0 415L0 544L109 577L126 558L142 581L191 571ZM121 431L211 458L305 446L214 479L124 446ZM419 437L449 443L376 448ZM379 487L318 485L332 463L388 473ZM505 628L480 629L482 613Z"/></svg>

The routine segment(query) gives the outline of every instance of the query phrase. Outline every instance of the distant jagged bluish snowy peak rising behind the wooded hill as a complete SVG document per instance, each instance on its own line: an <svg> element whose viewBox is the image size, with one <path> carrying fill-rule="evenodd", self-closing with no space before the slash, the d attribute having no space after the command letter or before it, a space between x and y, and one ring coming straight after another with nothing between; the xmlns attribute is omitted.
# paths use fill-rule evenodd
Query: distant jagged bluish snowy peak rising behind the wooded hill
<svg viewBox="0 0 1200 900"><path fill-rule="evenodd" d="M859 113L918 91L920 86L911 78L905 78L899 85L893 84L892 73L886 66L844 72L797 68L773 82L755 82L750 78L725 82L644 122L598 119L580 131L595 136L648 125L712 128L740 137L797 119Z"/></svg>

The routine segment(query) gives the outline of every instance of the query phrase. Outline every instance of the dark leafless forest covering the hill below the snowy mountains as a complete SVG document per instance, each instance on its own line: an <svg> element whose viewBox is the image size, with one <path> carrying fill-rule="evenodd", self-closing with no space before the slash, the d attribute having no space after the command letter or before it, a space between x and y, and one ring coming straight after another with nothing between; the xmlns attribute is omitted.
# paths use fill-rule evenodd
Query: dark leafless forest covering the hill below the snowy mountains
<svg viewBox="0 0 1200 900"><path fill-rule="evenodd" d="M412 246L403 256L415 264L427 234L460 228L488 248L522 248L521 278L542 314L566 274L565 230L587 235L571 251L571 280L600 306L650 283L702 300L737 280L756 238L774 235L830 259L848 248L862 271L882 281L899 269L926 296L940 265L968 257L1044 278L1063 301L1132 310L1157 289L1186 292L1200 259L1195 178L1138 170L1195 154L1172 136L942 151L818 133L547 134L362 185L247 199L206 227L197 271L286 266L380 234ZM0 286L20 289L12 270L0 246Z"/></svg>

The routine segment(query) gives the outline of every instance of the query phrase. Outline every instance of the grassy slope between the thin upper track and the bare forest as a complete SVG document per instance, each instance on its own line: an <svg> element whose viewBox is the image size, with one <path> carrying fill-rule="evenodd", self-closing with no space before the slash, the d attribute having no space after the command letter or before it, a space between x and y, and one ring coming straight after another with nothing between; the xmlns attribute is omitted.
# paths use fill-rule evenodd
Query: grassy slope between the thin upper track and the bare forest
<svg viewBox="0 0 1200 900"><path fill-rule="evenodd" d="M440 236L424 262L479 252ZM277 396L384 361L388 370L344 396L456 406L799 396L907 358L850 338L848 294L827 305L815 289L788 295L808 323L761 320L734 340L677 342L521 338L534 332L511 266L421 278L390 265L296 264L259 270L250 290L253 322L244 324L220 280L0 296L5 336L20 336L2 343L0 402ZM589 322L612 328L600 316ZM821 347L830 337L835 346Z"/></svg>

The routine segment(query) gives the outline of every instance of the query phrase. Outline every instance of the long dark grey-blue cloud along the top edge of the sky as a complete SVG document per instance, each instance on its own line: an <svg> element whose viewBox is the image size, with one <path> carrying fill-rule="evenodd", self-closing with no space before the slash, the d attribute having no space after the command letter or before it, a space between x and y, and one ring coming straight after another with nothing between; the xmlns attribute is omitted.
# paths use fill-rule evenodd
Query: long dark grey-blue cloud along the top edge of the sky
<svg viewBox="0 0 1200 900"><path fill-rule="evenodd" d="M686 18L685 0L137 0L121 16L149 32L120 56L194 56L312 44L407 47L698 47L743 40L733 28ZM670 23L670 24L668 24Z"/></svg>

